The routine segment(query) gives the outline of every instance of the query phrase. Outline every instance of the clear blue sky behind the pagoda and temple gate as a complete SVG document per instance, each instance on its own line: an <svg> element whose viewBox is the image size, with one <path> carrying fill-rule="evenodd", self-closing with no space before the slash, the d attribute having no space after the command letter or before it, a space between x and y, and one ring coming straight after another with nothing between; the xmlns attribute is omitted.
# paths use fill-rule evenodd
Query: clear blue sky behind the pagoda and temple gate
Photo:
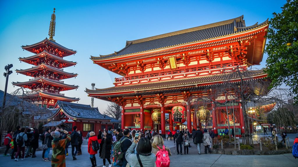
<svg viewBox="0 0 298 167"><path fill-rule="evenodd" d="M77 51L65 59L75 61L75 67L66 72L78 73L77 78L64 80L79 85L79 89L64 91L66 96L80 97L79 103L90 104L84 92L113 86L118 75L93 64L90 55L99 56L119 51L126 40L136 40L167 32L201 26L244 15L246 26L262 23L281 12L285 0L278 1L1 1L0 2L0 89L4 90L4 66L13 64L8 93L13 92L11 82L28 81L31 77L15 73L32 65L18 61L32 56L21 45L31 45L48 37L49 22L56 8L56 32L59 44ZM267 55L257 68L265 67ZM94 106L104 111L107 102L95 99Z"/></svg>

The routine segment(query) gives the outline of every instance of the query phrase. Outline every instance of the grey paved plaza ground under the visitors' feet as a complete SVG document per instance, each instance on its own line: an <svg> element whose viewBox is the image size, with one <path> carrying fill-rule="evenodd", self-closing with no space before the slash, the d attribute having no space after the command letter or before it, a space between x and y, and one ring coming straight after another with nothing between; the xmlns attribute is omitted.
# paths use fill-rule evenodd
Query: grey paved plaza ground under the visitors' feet
<svg viewBox="0 0 298 167"><path fill-rule="evenodd" d="M172 156L170 156L170 166L171 167L188 167L188 166L208 166L208 167L240 167L240 166L272 166L272 167L297 167L298 159L295 159L292 154L282 154L282 155L221 155L221 154L204 154L204 147L201 146L201 155L198 155L198 150L196 146L191 143L193 148L189 149L188 155L177 155L173 154L174 142L172 141L164 141L165 145L171 149ZM291 142L292 143L292 142ZM183 146L182 146L183 149ZM80 167L90 167L91 162L89 160L89 154L87 153L87 141L85 140L82 145L82 155L77 156L77 160L72 160L71 157L71 148L69 148L69 156L66 156L66 166L80 166ZM176 153L176 150L175 150ZM51 166L51 162L45 162L41 159L42 151L36 152L36 158L25 158L25 160L19 159L18 162L10 159L10 157L4 157L0 155L0 167L19 167L19 166L32 166L32 167L40 167L40 166ZM52 150L50 151L49 157L52 155ZM96 155L97 165L103 166L103 160L99 158L99 155ZM106 161L106 163L108 163ZM108 166L108 164L107 164Z"/></svg>

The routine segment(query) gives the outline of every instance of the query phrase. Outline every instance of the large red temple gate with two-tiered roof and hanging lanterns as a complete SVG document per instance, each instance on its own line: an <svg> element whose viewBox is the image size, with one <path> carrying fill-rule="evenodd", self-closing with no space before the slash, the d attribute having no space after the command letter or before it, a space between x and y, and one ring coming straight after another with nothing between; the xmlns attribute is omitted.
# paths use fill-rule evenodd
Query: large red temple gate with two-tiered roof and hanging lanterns
<svg viewBox="0 0 298 167"><path fill-rule="evenodd" d="M175 128L173 122L186 119L191 131L198 126L199 120L192 104L187 102L189 97L200 95L205 86L221 83L223 70L237 67L247 70L249 66L259 65L263 59L267 29L268 20L246 26L243 16L240 16L126 41L125 47L118 52L91 56L94 64L123 77L115 78L114 87L86 89L86 93L122 106L122 129L157 128L165 136L165 114L169 114L170 130ZM248 73L253 79L267 77L263 70L248 70ZM239 80L236 77L231 82ZM232 105L222 106L223 109L226 107L231 110ZM244 132L242 107L240 103L233 107L237 116L234 122L236 134L239 135ZM180 112L183 108L185 115ZM224 112L220 110L218 107L212 111L210 117L215 133L227 127Z"/></svg>

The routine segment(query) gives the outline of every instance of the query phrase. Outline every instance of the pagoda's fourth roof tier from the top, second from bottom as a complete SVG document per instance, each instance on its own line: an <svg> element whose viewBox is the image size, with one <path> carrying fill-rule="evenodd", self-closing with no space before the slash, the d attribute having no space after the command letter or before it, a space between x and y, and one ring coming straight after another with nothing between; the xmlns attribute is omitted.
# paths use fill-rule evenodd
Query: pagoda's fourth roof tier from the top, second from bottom
<svg viewBox="0 0 298 167"><path fill-rule="evenodd" d="M48 78L44 78L44 77L39 77L39 78L35 78L34 80L31 81L26 81L26 82L13 82L13 85L16 86L25 86L25 85L31 85L31 84L35 84L35 83L48 83L48 84L52 84L52 85L56 85L56 86L60 86L60 87L66 87L66 88L71 88L71 89L77 89L79 86L75 86L75 85L69 85L60 81L54 81ZM69 89L68 89L69 90Z"/></svg>

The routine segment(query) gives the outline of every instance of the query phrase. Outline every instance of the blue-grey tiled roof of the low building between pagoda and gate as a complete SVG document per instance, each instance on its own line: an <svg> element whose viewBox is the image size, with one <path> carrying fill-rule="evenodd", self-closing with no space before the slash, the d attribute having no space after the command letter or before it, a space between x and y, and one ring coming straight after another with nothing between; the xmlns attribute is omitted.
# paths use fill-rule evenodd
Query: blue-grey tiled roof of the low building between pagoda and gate
<svg viewBox="0 0 298 167"><path fill-rule="evenodd" d="M112 118L101 114L98 108L92 108L90 105L69 103L58 100L57 104L63 111L73 117L78 119L95 119L95 120L111 120ZM112 122L112 120L111 120ZM116 120L113 120L116 123ZM119 121L117 121L119 123Z"/></svg>

